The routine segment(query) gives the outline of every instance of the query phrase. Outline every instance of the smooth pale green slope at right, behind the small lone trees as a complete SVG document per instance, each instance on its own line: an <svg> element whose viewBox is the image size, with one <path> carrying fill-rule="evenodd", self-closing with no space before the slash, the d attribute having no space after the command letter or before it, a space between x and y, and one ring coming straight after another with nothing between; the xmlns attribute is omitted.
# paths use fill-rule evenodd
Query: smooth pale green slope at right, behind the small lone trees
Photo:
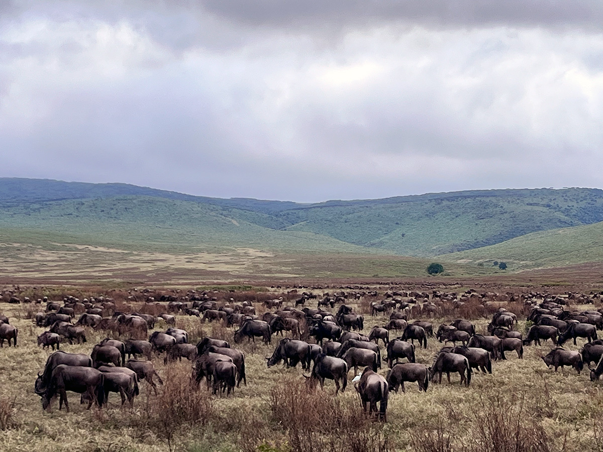
<svg viewBox="0 0 603 452"><path fill-rule="evenodd" d="M505 262L510 271L603 261L603 222L540 231L439 259L485 268L494 261Z"/></svg>

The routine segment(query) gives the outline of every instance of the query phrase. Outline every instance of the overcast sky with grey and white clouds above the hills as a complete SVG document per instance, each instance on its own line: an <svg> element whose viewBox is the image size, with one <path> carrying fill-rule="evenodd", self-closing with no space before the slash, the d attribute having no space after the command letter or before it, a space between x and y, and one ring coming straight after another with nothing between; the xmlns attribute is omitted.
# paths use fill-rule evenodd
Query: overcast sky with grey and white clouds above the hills
<svg viewBox="0 0 603 452"><path fill-rule="evenodd" d="M603 187L603 2L0 0L0 176Z"/></svg>

